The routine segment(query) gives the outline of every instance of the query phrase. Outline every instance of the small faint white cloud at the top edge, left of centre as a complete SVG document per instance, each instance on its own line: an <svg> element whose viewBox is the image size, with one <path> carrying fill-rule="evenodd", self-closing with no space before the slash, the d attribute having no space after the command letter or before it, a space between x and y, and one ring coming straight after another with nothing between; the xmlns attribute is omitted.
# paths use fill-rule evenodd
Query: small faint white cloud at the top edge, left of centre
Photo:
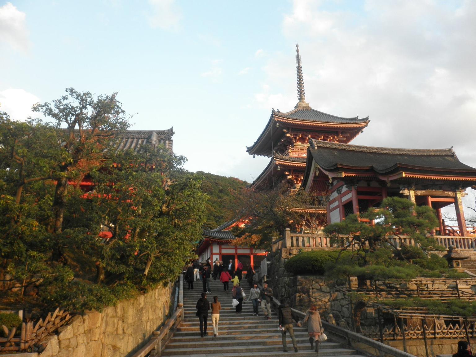
<svg viewBox="0 0 476 357"><path fill-rule="evenodd" d="M182 18L182 12L175 0L149 0L152 13L149 15L149 25L156 29L177 30Z"/></svg>

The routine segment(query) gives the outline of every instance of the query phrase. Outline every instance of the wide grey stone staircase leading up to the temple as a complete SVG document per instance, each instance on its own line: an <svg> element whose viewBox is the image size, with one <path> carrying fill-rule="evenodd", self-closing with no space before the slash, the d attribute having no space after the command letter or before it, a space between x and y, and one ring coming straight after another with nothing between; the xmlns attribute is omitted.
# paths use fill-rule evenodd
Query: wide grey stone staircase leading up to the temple
<svg viewBox="0 0 476 357"><path fill-rule="evenodd" d="M307 329L294 325L298 352L294 352L291 338L288 336L288 351L283 352L281 332L278 331L278 316L273 312L271 320L264 319L261 308L259 316L252 316L253 305L250 302L243 305L241 314L235 312L231 305L230 292L223 292L223 285L218 281L211 281L211 293L208 301L213 301L213 296L218 296L221 303L220 320L218 323L218 336L213 336L211 324L211 311L208 314L208 335L200 337L198 317L195 316L197 300L203 291L202 282L194 283L194 289L188 290L184 283L183 304L184 319L178 326L173 337L170 338L162 356L187 356L187 357L241 357L241 356L317 356L310 349ZM242 280L242 288L249 294L248 282ZM348 356L357 357L355 350L333 342L329 338L321 343L318 356Z"/></svg>

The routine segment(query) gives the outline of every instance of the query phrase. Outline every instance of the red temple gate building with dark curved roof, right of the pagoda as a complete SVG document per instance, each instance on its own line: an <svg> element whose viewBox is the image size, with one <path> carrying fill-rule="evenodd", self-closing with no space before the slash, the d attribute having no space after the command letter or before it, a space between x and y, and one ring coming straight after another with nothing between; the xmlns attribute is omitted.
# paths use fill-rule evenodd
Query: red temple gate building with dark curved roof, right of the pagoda
<svg viewBox="0 0 476 357"><path fill-rule="evenodd" d="M407 197L436 210L436 236L467 237L476 232L466 227L461 197L475 184L476 169L460 162L452 148L394 149L311 140L302 187L329 195L328 223L379 207L386 197ZM446 226L442 219L441 208L451 204L457 227Z"/></svg>

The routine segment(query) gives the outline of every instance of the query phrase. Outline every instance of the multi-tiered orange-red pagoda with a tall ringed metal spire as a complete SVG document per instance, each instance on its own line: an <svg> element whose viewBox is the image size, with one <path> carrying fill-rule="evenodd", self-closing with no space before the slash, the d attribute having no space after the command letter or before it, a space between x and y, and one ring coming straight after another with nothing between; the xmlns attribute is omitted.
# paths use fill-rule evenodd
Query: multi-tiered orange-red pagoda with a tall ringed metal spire
<svg viewBox="0 0 476 357"><path fill-rule="evenodd" d="M297 190L304 177L310 139L347 144L369 123L368 117L342 118L310 107L304 91L299 45L296 48L299 101L288 112L272 109L265 129L256 142L247 147L248 153L253 157L258 155L271 158L268 166L252 184L257 189L288 183L291 190Z"/></svg>

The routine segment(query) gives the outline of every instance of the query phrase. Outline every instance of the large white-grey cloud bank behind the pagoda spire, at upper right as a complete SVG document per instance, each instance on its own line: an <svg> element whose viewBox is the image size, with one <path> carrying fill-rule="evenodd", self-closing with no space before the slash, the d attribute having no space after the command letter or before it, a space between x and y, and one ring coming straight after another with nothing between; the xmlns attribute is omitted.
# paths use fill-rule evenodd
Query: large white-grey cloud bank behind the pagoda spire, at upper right
<svg viewBox="0 0 476 357"><path fill-rule="evenodd" d="M282 22L289 51L269 56L264 82L272 90L261 90L256 101L269 109L294 107L291 43L306 34L299 40L306 100L338 116L369 115L371 122L356 144L454 145L458 157L475 167L470 132L476 113L476 41L468 34L476 33L476 1L367 0L358 10L340 5L331 11L320 1L294 1Z"/></svg>

